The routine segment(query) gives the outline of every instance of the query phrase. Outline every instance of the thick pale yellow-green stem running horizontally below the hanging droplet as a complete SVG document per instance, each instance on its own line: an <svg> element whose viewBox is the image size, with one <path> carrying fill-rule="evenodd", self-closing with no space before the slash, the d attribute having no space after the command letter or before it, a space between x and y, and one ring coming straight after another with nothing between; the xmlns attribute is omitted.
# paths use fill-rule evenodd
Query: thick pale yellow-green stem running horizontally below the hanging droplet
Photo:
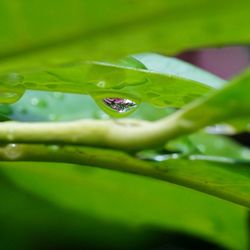
<svg viewBox="0 0 250 250"><path fill-rule="evenodd" d="M156 122L79 120L71 122L0 123L2 143L76 144L136 151L163 145L202 125L185 121L181 112Z"/></svg>

